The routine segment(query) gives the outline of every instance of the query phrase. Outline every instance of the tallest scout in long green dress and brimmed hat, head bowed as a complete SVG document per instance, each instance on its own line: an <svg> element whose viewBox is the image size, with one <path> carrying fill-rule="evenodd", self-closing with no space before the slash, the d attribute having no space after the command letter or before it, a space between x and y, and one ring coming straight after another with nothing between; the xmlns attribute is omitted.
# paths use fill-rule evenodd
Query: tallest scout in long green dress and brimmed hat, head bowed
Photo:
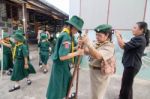
<svg viewBox="0 0 150 99"><path fill-rule="evenodd" d="M57 38L54 53L52 55L53 66L51 78L47 89L47 99L63 99L67 96L71 72L69 65L72 58L83 54L82 49L74 52L74 34L81 32L83 20L78 16L73 16L66 21L67 26Z"/></svg>

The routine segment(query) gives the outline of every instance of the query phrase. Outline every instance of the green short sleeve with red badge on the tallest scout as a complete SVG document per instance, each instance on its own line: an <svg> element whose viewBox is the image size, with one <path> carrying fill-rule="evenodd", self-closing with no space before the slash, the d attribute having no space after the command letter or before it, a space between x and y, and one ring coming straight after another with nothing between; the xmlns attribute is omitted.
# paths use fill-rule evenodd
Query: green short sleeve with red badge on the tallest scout
<svg viewBox="0 0 150 99"><path fill-rule="evenodd" d="M69 35L63 35L62 37L62 42L60 42L60 47L59 47L59 57L61 56L66 56L68 53L70 53L70 48L71 48L71 41L69 39Z"/></svg>

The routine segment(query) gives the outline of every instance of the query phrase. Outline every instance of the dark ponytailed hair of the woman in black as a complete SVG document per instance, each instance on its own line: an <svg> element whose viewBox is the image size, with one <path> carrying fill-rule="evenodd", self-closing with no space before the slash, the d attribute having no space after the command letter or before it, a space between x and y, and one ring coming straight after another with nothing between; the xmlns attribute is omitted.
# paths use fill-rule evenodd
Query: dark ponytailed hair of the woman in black
<svg viewBox="0 0 150 99"><path fill-rule="evenodd" d="M146 46L149 44L150 31L148 30L148 25L146 22L137 22L140 29L143 29L143 33L146 38Z"/></svg>

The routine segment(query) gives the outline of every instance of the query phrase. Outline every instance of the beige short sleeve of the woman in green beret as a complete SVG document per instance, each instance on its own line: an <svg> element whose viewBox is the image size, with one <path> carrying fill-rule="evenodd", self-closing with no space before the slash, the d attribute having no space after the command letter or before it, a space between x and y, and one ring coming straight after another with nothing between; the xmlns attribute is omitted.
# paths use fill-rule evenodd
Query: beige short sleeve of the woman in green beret
<svg viewBox="0 0 150 99"><path fill-rule="evenodd" d="M108 60L114 55L114 46L113 45L106 45L102 49L99 50L100 54L102 55L103 60Z"/></svg>

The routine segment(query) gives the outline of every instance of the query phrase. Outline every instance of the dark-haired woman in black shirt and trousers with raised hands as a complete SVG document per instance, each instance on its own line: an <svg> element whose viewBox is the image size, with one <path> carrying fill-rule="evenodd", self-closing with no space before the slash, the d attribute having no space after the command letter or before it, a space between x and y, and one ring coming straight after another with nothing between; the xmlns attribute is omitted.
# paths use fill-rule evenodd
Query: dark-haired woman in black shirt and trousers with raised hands
<svg viewBox="0 0 150 99"><path fill-rule="evenodd" d="M133 99L132 85L134 77L139 72L142 65L142 55L144 49L149 43L149 30L145 22L137 22L132 29L133 38L127 43L122 39L119 31L116 31L116 36L120 48L124 49L122 63L124 72L119 99Z"/></svg>

